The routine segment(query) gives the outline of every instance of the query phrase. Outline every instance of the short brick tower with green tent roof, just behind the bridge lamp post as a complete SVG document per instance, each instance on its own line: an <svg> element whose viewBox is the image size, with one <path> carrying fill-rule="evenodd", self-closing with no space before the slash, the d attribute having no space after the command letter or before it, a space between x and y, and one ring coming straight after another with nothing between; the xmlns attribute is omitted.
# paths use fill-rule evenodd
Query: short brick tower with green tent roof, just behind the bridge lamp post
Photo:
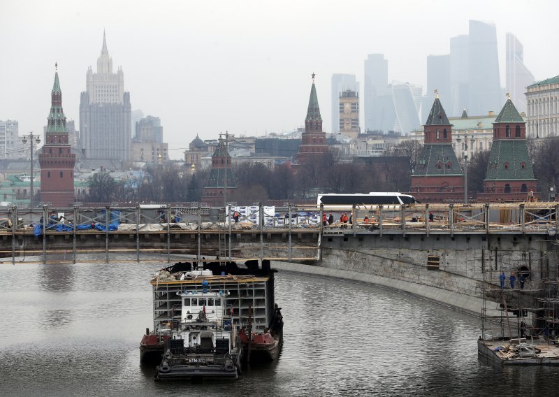
<svg viewBox="0 0 559 397"><path fill-rule="evenodd" d="M235 186L235 176L231 169L231 156L227 147L228 136L222 138L219 135L217 148L212 154L212 168L210 169L210 178L204 187L204 195L202 201L208 203L212 207L221 207L224 205L224 192L227 189L227 197L231 197L231 192L237 187Z"/></svg>

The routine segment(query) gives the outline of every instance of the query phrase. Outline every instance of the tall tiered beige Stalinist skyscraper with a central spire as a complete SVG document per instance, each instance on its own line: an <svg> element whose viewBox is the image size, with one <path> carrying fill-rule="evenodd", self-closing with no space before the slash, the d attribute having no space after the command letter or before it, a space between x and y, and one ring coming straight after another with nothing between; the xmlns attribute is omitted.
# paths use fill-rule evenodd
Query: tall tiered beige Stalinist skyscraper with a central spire
<svg viewBox="0 0 559 397"><path fill-rule="evenodd" d="M112 73L112 59L103 32L97 73L87 69L86 91L80 100L80 147L89 159L129 161L131 144L130 93L124 92L124 73Z"/></svg>

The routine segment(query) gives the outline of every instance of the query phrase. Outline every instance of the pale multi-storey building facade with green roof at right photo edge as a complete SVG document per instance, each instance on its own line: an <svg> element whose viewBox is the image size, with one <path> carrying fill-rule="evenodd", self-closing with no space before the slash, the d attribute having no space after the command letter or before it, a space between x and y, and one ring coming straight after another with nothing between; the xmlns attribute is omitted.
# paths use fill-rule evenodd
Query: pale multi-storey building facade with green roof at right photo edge
<svg viewBox="0 0 559 397"><path fill-rule="evenodd" d="M526 88L528 138L559 136L559 75Z"/></svg>

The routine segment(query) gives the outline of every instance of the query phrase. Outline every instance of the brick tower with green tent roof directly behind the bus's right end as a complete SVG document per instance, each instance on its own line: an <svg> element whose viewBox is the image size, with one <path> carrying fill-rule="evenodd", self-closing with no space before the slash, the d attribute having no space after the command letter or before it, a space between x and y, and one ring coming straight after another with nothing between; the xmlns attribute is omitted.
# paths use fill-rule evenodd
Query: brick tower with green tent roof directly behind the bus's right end
<svg viewBox="0 0 559 397"><path fill-rule="evenodd" d="M439 94L423 131L423 150L412 175L412 194L425 203L458 201L464 195L464 173L452 148L452 124Z"/></svg>

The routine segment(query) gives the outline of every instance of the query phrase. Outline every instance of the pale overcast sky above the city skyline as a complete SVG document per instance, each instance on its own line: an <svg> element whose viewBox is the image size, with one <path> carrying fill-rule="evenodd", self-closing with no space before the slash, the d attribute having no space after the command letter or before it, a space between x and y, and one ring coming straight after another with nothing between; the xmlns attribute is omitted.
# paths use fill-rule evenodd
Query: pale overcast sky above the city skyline
<svg viewBox="0 0 559 397"><path fill-rule="evenodd" d="M0 120L42 133L59 65L62 104L79 125L87 67L103 29L113 70L122 66L132 110L161 118L170 157L198 133L262 136L303 125L311 73L331 131L331 75L382 53L389 80L426 86L426 56L449 53L469 20L495 23L504 87L504 37L524 45L543 80L559 75L555 1L0 1ZM514 99L513 99L514 100ZM503 99L504 101L504 99Z"/></svg>

